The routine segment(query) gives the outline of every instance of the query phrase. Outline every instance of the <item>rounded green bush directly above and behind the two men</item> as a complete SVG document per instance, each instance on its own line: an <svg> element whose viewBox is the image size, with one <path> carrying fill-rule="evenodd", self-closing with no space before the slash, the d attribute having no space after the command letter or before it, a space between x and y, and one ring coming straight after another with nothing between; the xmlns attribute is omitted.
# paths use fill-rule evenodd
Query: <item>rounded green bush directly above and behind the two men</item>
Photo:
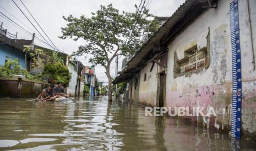
<svg viewBox="0 0 256 151"><path fill-rule="evenodd" d="M64 87L67 87L71 74L69 73L68 67L64 66L61 62L56 62L55 65L48 63L42 72L42 78L47 80L48 83L56 84L62 82Z"/></svg>

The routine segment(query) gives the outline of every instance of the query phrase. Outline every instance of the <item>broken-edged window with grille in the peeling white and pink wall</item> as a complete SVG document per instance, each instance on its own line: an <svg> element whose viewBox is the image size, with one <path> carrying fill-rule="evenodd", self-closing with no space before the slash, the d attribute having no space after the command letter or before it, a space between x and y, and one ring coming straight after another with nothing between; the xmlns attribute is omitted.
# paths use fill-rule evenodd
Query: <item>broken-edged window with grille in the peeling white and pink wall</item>
<svg viewBox="0 0 256 151"><path fill-rule="evenodd" d="M185 57L178 61L178 73L186 73L195 71L206 65L207 51L198 51L197 47L193 47L185 51Z"/></svg>

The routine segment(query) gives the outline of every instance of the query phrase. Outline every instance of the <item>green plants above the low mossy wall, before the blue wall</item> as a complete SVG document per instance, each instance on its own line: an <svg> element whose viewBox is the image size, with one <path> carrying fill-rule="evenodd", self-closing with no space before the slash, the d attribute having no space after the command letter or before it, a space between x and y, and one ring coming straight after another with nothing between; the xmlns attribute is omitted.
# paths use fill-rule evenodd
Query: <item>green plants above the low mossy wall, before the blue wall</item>
<svg viewBox="0 0 256 151"><path fill-rule="evenodd" d="M21 74L24 77L30 77L28 71L20 66L18 59L8 60L3 66L0 66L0 77L10 78L13 75Z"/></svg>

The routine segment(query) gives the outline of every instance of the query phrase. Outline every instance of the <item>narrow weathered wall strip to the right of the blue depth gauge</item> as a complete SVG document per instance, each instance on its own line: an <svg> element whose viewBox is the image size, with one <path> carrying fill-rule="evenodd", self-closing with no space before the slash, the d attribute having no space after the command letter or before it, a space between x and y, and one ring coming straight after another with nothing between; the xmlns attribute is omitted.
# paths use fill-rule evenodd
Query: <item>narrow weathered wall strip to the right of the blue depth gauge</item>
<svg viewBox="0 0 256 151"><path fill-rule="evenodd" d="M256 140L256 70L253 69L256 54L256 1L238 1L241 63L242 63L242 134ZM249 13L250 21L249 22ZM250 26L251 25L251 26ZM252 34L252 40L250 36ZM253 41L253 42L252 42ZM254 50L252 50L252 44ZM254 62L255 64L255 62Z"/></svg>

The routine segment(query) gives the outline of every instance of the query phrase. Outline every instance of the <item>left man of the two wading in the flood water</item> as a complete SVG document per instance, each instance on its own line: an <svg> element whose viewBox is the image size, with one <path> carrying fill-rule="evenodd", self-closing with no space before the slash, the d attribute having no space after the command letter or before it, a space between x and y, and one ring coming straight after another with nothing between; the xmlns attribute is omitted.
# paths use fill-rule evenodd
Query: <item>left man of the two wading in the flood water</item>
<svg viewBox="0 0 256 151"><path fill-rule="evenodd" d="M42 90L41 94L36 98L36 101L54 101L57 97L53 95L54 84Z"/></svg>

